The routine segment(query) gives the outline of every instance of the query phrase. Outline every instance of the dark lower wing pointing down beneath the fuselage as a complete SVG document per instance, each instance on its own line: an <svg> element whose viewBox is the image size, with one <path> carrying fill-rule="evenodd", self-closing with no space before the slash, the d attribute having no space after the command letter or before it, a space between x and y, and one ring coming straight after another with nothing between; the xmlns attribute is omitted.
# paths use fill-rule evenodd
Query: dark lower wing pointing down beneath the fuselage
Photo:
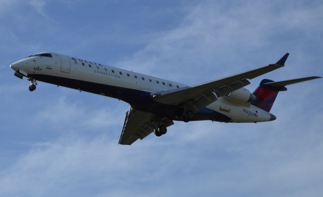
<svg viewBox="0 0 323 197"><path fill-rule="evenodd" d="M167 118L159 120L159 123L164 124L166 127L174 124L172 120ZM157 125L157 117L155 115L130 107L129 111L126 112L119 144L131 145L137 139L143 139L152 133Z"/></svg>

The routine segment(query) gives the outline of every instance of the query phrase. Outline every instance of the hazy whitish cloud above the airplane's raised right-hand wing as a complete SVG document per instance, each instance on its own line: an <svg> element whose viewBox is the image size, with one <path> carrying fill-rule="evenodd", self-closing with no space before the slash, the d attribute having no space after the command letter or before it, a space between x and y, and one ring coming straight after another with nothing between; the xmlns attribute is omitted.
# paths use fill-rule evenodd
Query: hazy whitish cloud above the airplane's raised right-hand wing
<svg viewBox="0 0 323 197"><path fill-rule="evenodd" d="M295 47L302 50L306 40L318 38L322 30L317 23L323 19L321 4L303 9L301 3L280 3L285 9L277 9L277 2L184 6L188 14L178 27L157 34L142 50L116 64L194 84L276 62L286 52L293 55ZM298 35L304 41L295 46ZM301 52L300 59L306 59L307 52Z"/></svg>

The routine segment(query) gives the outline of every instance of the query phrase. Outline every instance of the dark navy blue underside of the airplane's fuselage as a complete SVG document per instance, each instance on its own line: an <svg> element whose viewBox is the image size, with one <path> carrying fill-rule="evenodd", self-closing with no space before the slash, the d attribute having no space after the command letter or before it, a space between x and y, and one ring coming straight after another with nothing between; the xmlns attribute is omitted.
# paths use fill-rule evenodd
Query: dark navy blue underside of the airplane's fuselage
<svg viewBox="0 0 323 197"><path fill-rule="evenodd" d="M124 87L117 87L112 85L93 83L88 81L82 81L77 79L69 79L64 77L50 76L50 75L30 75L36 80L43 81L46 83L51 83L55 85L60 85L64 87L70 87L73 89L80 89L82 91L87 91L95 94L102 93L105 96L117 98L128 104L137 110L144 112L150 112L160 117L173 117L174 120L177 119L176 114L182 114L183 108L179 106L172 106L161 104L152 100L150 93L148 91L142 91L137 89L130 89ZM213 111L208 108L203 108L194 115L194 120L214 120L220 122L230 122L231 119L219 112Z"/></svg>

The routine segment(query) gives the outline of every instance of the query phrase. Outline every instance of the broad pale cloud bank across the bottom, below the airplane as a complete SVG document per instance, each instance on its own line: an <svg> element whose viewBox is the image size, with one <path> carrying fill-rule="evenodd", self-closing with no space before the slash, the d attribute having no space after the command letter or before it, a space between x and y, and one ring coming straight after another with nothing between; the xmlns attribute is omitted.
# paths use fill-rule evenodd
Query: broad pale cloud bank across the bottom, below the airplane
<svg viewBox="0 0 323 197"><path fill-rule="evenodd" d="M218 125L214 123L212 128L219 129ZM185 135L210 130L210 125L200 124L185 135L173 130L173 135L183 136L183 140L174 140L176 143L160 143L162 138L151 137L132 146L121 146L104 134L93 139L62 136L36 143L11 167L0 171L0 193L193 196L260 192L264 196L283 196L315 188L311 193L319 195L321 190L316 185L323 172L321 134L320 139L304 134L302 140L297 137L289 142L287 135L276 140L280 133L276 128L265 134L232 125L241 131L225 126L190 141ZM312 128L307 132L318 134ZM310 145L298 144L308 140Z"/></svg>

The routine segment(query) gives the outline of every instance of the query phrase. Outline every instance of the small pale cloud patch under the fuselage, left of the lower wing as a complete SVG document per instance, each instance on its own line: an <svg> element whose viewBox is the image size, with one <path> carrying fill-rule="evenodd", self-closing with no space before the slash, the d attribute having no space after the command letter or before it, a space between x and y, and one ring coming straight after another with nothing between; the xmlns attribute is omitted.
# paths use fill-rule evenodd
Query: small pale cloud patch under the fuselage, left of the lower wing
<svg viewBox="0 0 323 197"><path fill-rule="evenodd" d="M123 109L123 106L104 106L92 109L86 103L71 102L66 97L60 97L53 101L52 105L40 109L35 119L38 123L60 125L59 127L65 129L106 129L112 125L122 126L125 116L125 112L121 112Z"/></svg>

